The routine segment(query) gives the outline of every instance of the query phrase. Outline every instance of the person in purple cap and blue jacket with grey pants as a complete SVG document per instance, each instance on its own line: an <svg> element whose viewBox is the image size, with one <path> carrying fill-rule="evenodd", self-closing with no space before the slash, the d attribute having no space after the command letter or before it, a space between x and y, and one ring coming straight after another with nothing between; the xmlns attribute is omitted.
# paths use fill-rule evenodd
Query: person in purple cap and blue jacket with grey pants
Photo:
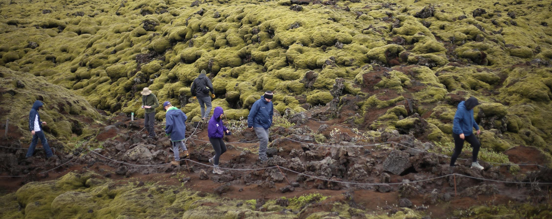
<svg viewBox="0 0 552 219"><path fill-rule="evenodd" d="M174 153L174 161L180 161L179 147L184 151L184 157L188 157L188 149L184 145L186 134L186 119L188 117L184 112L171 105L171 102L163 102L163 108L167 111L165 114L165 134L171 136L171 146ZM173 162L176 165L176 162Z"/></svg>

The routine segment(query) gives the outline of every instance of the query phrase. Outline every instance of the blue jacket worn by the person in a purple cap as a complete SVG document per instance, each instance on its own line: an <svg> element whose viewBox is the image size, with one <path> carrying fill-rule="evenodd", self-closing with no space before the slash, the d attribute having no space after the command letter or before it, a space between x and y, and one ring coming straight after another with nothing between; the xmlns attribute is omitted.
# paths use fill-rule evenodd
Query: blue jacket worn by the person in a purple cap
<svg viewBox="0 0 552 219"><path fill-rule="evenodd" d="M176 107L170 107L165 114L165 133L171 135L171 141L182 141L186 138L186 119L184 112Z"/></svg>

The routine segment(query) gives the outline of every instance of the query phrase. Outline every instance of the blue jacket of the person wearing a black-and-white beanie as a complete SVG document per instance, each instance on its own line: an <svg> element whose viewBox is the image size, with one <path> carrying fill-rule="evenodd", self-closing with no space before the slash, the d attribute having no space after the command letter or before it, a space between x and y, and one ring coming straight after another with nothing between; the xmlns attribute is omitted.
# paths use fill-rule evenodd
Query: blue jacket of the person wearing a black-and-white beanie
<svg viewBox="0 0 552 219"><path fill-rule="evenodd" d="M274 106L272 102L264 99L264 95L260 100L255 101L247 116L247 127L262 127L264 129L272 126L272 116L274 114Z"/></svg>

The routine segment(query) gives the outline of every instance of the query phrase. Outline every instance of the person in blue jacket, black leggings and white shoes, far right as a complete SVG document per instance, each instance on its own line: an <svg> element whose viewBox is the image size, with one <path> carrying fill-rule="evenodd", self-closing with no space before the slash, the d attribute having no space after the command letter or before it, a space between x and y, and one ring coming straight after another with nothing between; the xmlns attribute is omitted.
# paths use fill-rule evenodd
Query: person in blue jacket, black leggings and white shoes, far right
<svg viewBox="0 0 552 219"><path fill-rule="evenodd" d="M470 97L466 101L458 103L458 109L454 115L454 122L452 127L452 137L454 138L454 154L450 158L450 166L454 167L454 163L464 147L464 141L468 141L474 150L471 152L471 167L477 169L484 169L479 162L477 162L477 154L479 154L479 148L481 143L475 137L473 129L477 130L479 135L479 125L474 119L474 107L479 105L477 98Z"/></svg>

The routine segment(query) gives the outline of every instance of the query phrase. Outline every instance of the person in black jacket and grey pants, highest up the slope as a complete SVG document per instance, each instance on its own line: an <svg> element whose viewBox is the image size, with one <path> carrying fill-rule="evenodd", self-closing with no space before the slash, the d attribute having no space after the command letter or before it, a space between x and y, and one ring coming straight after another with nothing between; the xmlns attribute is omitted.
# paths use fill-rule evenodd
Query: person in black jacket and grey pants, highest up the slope
<svg viewBox="0 0 552 219"><path fill-rule="evenodd" d="M201 74L199 74L199 76L194 79L190 90L192 91L192 96L194 96L194 99L198 100L199 102L199 108L201 109L201 119L207 120L212 107L211 97L215 98L215 90L213 89L213 84L211 84L211 80L209 80L209 78L207 78L207 75L205 75L205 70L201 70ZM209 96L209 91L211 92L211 96ZM207 107L206 110L205 107Z"/></svg>

